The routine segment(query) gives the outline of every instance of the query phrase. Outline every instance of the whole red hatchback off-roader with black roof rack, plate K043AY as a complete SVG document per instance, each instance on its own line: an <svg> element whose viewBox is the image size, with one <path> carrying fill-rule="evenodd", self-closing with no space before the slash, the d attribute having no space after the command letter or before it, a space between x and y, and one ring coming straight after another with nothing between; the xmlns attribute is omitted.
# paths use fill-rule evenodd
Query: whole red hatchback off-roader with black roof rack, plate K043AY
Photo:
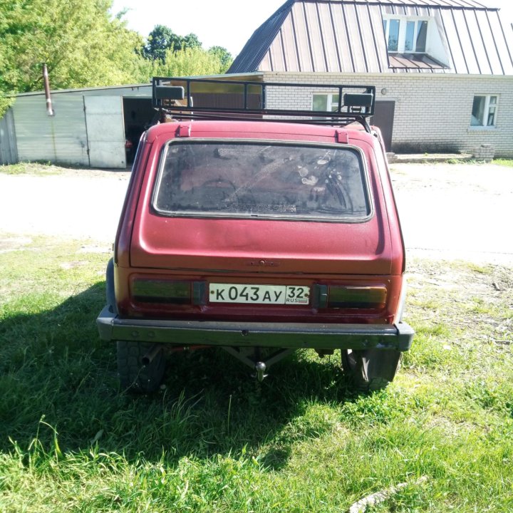
<svg viewBox="0 0 513 513"><path fill-rule="evenodd" d="M179 120L142 136L97 321L123 387L155 390L166 351L219 346L260 380L295 349L340 349L357 388L383 388L413 330L373 88L315 86L339 91L328 113L247 106L247 90L263 104L270 87L314 87L298 84L193 108L210 82L154 79L155 106Z"/></svg>

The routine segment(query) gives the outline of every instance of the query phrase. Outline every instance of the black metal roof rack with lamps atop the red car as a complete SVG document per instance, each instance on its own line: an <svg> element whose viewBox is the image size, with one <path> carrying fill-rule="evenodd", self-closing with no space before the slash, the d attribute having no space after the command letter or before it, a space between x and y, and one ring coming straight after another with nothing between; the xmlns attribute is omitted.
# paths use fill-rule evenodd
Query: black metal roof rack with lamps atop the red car
<svg viewBox="0 0 513 513"><path fill-rule="evenodd" d="M284 108L284 98L312 103L314 94L331 94L333 110ZM338 97L338 98L337 98ZM316 125L358 121L370 132L375 86L276 83L212 78L154 77L153 107L178 119L265 120ZM276 106L274 106L276 105Z"/></svg>

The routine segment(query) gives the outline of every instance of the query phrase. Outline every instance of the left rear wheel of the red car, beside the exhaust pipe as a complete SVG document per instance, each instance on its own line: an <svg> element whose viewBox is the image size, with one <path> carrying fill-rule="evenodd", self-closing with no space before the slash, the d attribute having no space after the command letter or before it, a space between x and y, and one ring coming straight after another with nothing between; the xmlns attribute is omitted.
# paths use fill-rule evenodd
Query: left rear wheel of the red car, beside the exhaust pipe
<svg viewBox="0 0 513 513"><path fill-rule="evenodd" d="M162 348L146 342L118 341L117 349L121 386L138 393L157 390L165 371L165 354ZM150 352L152 358L144 361Z"/></svg>

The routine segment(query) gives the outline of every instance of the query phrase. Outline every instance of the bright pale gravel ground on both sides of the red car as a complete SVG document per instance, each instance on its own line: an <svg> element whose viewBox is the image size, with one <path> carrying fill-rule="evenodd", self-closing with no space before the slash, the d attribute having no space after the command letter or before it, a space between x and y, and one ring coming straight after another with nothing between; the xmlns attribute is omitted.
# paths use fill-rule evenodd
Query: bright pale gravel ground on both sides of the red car
<svg viewBox="0 0 513 513"><path fill-rule="evenodd" d="M0 173L0 250L35 235L110 247L130 172L34 169ZM513 264L511 167L395 164L391 175L410 256Z"/></svg>

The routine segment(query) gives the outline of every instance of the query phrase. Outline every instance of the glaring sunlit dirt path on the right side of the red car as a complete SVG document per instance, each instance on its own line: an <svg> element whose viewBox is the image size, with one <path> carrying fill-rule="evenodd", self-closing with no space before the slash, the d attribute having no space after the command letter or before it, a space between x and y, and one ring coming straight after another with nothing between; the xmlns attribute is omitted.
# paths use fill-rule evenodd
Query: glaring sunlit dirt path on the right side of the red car
<svg viewBox="0 0 513 513"><path fill-rule="evenodd" d="M513 168L393 165L392 180L410 254L513 264Z"/></svg>

